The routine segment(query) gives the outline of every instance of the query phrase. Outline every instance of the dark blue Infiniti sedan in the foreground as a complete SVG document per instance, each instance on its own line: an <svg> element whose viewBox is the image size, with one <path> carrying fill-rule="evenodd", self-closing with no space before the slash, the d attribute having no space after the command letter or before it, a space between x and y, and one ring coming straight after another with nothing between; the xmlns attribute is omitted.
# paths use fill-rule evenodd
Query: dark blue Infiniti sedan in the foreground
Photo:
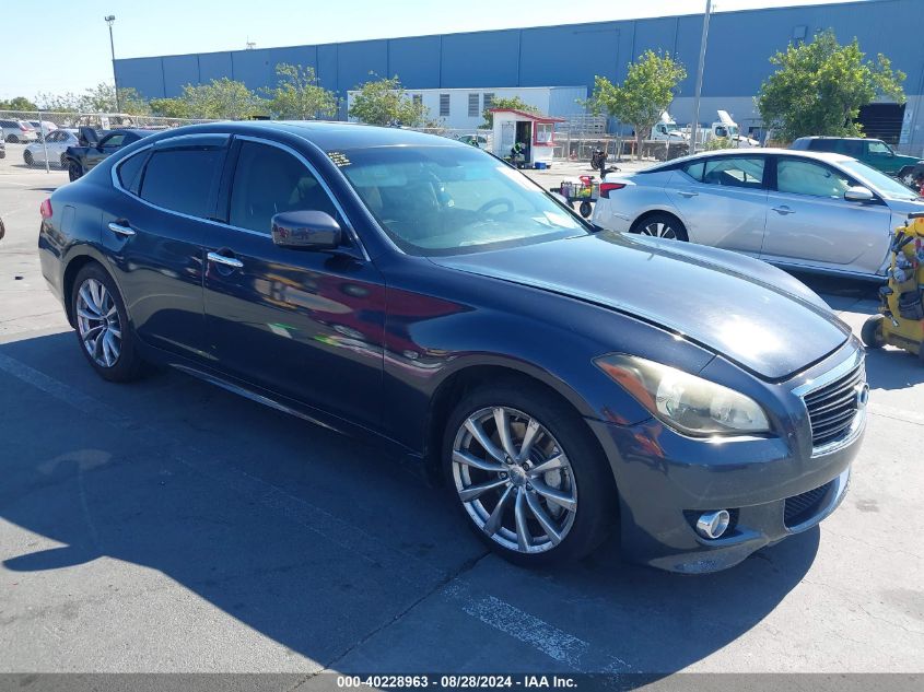
<svg viewBox="0 0 924 692"><path fill-rule="evenodd" d="M438 470L514 562L576 560L618 524L634 560L720 570L846 491L864 351L817 295L733 253L597 233L473 146L191 126L42 216L43 273L100 376L167 363L377 441Z"/></svg>

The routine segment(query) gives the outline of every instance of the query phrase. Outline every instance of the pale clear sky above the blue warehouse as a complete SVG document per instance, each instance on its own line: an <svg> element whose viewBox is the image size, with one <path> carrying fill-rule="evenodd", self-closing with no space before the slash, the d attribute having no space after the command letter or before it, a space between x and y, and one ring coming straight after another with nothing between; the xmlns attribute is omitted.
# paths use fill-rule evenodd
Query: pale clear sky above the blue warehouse
<svg viewBox="0 0 924 692"><path fill-rule="evenodd" d="M11 2L13 0L10 0ZM830 0L716 0L717 12ZM20 3L22 5L22 3ZM0 98L112 82L106 14L117 58L467 32L701 12L704 0L45 0L30 20L2 22ZM342 8L342 9L338 9ZM575 10L589 11L575 11ZM581 56L562 56L580 60Z"/></svg>

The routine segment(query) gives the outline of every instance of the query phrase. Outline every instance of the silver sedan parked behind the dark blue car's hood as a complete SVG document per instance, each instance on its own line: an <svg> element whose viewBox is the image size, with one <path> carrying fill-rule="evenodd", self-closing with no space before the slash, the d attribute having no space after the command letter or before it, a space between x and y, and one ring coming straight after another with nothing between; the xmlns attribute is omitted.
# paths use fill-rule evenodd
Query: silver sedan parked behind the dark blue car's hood
<svg viewBox="0 0 924 692"><path fill-rule="evenodd" d="M606 176L593 222L791 269L881 279L891 231L912 211L924 211L924 200L849 156L724 150Z"/></svg>

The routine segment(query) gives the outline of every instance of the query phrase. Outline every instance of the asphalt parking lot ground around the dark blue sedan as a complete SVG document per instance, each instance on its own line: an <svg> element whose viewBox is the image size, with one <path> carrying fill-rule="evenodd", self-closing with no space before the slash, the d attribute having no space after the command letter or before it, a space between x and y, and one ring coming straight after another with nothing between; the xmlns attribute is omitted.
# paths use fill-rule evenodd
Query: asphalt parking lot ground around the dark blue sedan
<svg viewBox="0 0 924 692"><path fill-rule="evenodd" d="M915 357L869 354L866 442L820 528L714 575L615 541L527 572L373 447L178 373L97 378L35 251L67 176L7 150L0 672L924 670ZM875 312L875 286L808 280L855 330Z"/></svg>

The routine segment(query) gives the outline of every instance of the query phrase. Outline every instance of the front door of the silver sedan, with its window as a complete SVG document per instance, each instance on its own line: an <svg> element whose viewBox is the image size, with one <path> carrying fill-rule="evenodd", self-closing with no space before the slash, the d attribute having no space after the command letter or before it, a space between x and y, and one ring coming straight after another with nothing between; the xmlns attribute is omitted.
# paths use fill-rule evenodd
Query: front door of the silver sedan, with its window
<svg viewBox="0 0 924 692"><path fill-rule="evenodd" d="M856 181L824 162L779 156L774 163L761 258L875 273L882 261L889 208L881 200L845 200L844 192Z"/></svg>

